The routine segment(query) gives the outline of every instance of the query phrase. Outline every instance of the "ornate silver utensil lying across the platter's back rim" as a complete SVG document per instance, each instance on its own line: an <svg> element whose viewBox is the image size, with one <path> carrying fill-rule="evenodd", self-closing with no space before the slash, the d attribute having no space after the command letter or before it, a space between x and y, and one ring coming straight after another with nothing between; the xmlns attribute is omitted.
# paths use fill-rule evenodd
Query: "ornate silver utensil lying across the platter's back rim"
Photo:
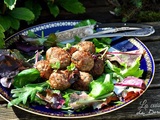
<svg viewBox="0 0 160 120"><path fill-rule="evenodd" d="M113 25L113 26L112 26ZM95 32L96 30L96 32ZM98 30L98 31L97 31ZM101 37L145 37L153 34L154 28L149 25L114 23L96 24L65 30L55 33L59 42L73 40L75 36L84 40Z"/></svg>

